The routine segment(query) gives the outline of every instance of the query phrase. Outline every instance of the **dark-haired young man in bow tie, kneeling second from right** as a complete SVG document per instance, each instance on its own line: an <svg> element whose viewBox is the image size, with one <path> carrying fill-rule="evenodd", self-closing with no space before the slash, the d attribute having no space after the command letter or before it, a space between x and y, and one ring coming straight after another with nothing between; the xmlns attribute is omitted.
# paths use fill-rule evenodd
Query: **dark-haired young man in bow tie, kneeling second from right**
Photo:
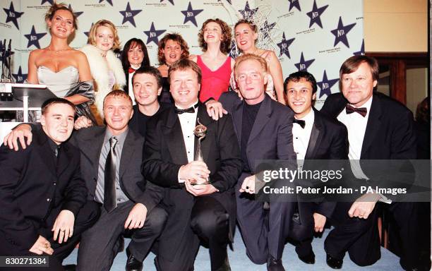
<svg viewBox="0 0 432 271"><path fill-rule="evenodd" d="M284 82L287 104L294 111L292 135L299 164L307 167L308 159L348 159L347 128L339 121L324 116L313 107L316 80L307 71L290 74ZM307 168L309 169L309 168ZM301 183L299 183L301 184ZM322 232L335 209L335 202L299 202L300 225L294 224L292 236L296 253L304 263L315 263L311 242L313 231Z"/></svg>

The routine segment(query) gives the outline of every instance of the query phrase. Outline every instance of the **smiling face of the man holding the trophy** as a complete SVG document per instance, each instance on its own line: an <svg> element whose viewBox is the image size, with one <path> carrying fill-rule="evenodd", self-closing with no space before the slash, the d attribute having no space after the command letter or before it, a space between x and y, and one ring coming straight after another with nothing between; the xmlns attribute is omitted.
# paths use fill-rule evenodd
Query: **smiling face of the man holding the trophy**
<svg viewBox="0 0 432 271"><path fill-rule="evenodd" d="M191 68L176 70L170 74L169 91L177 107L188 108L198 102L200 83Z"/></svg>

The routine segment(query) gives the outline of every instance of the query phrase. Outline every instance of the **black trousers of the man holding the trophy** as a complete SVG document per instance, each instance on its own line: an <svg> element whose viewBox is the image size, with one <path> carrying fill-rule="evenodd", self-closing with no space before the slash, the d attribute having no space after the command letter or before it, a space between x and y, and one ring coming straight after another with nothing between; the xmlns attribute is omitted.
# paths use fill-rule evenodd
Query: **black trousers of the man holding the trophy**
<svg viewBox="0 0 432 271"><path fill-rule="evenodd" d="M200 243L209 248L211 270L222 266L228 256L229 242L229 215L224 206L212 197L196 198L191 211L190 226L181 239L174 260L167 260L160 255L155 258L157 270L193 270Z"/></svg>

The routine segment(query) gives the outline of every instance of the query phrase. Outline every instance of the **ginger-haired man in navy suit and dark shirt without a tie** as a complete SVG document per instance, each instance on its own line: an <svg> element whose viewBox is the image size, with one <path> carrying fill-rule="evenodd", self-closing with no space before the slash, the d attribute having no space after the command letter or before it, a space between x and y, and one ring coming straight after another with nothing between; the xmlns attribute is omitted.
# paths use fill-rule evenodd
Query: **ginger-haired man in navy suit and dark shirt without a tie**
<svg viewBox="0 0 432 271"><path fill-rule="evenodd" d="M245 54L236 59L234 71L243 100L235 92L226 92L219 101L232 115L241 150L243 172L236 184L237 220L246 254L253 263L267 263L268 270L284 270L282 252L294 204L270 202L270 210L264 210L263 201L254 200L251 194L258 192L255 175L259 173L259 160L296 159L292 145L294 114L265 94L265 59Z"/></svg>

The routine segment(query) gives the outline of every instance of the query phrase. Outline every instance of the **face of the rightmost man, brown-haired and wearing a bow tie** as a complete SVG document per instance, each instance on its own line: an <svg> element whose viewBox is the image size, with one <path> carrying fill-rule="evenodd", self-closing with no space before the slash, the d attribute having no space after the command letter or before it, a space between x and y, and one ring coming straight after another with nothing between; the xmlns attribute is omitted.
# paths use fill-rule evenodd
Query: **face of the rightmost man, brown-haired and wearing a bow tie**
<svg viewBox="0 0 432 271"><path fill-rule="evenodd" d="M373 80L371 67L362 62L356 71L344 73L341 76L342 93L354 107L361 107L373 95L373 88L378 83Z"/></svg>

